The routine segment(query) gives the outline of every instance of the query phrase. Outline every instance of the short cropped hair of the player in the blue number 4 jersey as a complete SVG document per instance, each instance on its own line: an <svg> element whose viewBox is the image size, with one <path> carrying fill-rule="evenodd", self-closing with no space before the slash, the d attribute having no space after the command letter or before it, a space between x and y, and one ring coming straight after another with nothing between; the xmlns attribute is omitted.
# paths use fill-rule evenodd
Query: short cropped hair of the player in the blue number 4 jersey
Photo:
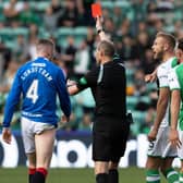
<svg viewBox="0 0 183 183"><path fill-rule="evenodd" d="M47 49L54 49L54 44L50 39L39 39L36 44L36 50L39 51L47 51Z"/></svg>

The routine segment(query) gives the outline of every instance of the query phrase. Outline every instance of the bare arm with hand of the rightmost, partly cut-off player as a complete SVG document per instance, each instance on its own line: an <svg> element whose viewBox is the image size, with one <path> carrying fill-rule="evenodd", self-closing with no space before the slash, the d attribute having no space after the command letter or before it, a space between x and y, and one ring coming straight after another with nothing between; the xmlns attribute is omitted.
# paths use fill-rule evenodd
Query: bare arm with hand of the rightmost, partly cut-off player
<svg viewBox="0 0 183 183"><path fill-rule="evenodd" d="M179 89L172 90L171 98L172 98L171 100L171 129L170 129L169 139L172 146L180 147L182 144L179 138L179 133L178 133L178 120L179 120L180 105L181 105L180 90Z"/></svg>

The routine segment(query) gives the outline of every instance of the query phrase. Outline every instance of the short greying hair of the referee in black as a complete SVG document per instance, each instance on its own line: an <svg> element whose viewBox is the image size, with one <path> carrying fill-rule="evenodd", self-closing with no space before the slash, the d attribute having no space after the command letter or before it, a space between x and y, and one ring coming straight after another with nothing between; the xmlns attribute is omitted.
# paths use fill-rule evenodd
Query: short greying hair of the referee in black
<svg viewBox="0 0 183 183"><path fill-rule="evenodd" d="M114 45L109 40L101 40L97 49L102 50L105 56L110 58L112 58L114 54Z"/></svg>

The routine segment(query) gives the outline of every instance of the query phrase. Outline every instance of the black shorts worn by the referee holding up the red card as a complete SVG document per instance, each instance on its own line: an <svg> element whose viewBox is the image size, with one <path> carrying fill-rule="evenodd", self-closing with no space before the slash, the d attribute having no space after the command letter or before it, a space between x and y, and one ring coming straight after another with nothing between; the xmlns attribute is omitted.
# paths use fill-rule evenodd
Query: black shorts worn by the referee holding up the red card
<svg viewBox="0 0 183 183"><path fill-rule="evenodd" d="M126 148L130 124L121 119L102 117L97 118L95 123L101 121L106 124L110 123L113 125L111 131L93 130L93 160L119 162Z"/></svg>

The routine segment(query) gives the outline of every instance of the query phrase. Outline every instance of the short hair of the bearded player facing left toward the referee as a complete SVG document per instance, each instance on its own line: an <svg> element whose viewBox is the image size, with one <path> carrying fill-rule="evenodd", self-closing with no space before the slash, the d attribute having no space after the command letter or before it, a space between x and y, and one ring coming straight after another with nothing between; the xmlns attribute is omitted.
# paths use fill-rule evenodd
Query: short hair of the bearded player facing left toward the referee
<svg viewBox="0 0 183 183"><path fill-rule="evenodd" d="M176 39L173 35L169 33L164 33L164 32L159 32L157 33L156 37L162 37L163 39L168 41L168 44L171 46L172 49L175 48Z"/></svg>

